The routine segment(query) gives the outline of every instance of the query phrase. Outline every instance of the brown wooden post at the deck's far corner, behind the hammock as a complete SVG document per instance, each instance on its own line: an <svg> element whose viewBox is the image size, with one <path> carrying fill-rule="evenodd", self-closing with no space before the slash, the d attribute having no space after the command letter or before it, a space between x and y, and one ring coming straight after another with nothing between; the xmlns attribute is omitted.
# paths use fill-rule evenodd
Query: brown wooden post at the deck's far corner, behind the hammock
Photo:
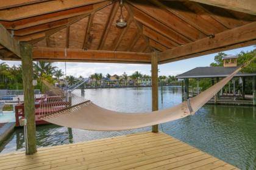
<svg viewBox="0 0 256 170"><path fill-rule="evenodd" d="M158 110L158 53L153 52L151 56L151 78L152 78L152 111ZM152 132L158 132L158 124L152 126Z"/></svg>

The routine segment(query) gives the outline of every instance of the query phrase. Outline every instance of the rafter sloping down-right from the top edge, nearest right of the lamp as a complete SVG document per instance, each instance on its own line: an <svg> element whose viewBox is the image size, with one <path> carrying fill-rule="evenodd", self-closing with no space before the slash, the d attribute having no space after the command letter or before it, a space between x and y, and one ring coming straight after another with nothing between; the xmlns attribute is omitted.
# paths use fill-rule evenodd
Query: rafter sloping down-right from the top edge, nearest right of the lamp
<svg viewBox="0 0 256 170"><path fill-rule="evenodd" d="M204 38L206 36L204 33L187 24L187 22L183 22L182 19L178 18L176 15L173 15L172 13L169 13L168 11L160 7L156 8L155 5L150 4L148 1L143 1L143 3L138 3L135 1L128 2L137 9L151 16L151 18L162 22L162 24L167 25L169 28L187 37L191 41L199 38Z"/></svg>

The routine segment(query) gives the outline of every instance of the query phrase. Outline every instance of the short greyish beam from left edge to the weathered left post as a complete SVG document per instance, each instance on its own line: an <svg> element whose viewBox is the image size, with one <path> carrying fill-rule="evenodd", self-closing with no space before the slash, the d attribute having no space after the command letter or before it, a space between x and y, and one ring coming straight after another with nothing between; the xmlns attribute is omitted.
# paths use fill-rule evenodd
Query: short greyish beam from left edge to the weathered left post
<svg viewBox="0 0 256 170"><path fill-rule="evenodd" d="M20 44L13 36L0 24L0 45L21 57Z"/></svg>

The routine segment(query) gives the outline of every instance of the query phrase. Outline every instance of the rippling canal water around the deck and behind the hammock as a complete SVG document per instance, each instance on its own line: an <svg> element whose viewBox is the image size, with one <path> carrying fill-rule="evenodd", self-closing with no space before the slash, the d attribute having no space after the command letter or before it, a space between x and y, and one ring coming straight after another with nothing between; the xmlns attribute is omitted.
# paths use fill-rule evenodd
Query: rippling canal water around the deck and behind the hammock
<svg viewBox="0 0 256 170"><path fill-rule="evenodd" d="M80 95L80 90L74 93ZM85 98L99 106L121 112L151 110L151 87L87 89ZM160 109L181 102L180 87L163 87L163 101L159 89ZM37 145L54 146L149 130L151 127L95 132L50 124L37 126ZM206 105L196 115L161 124L160 130L238 168L256 169L256 107ZM0 146L1 153L13 151L24 151L23 129L16 129Z"/></svg>

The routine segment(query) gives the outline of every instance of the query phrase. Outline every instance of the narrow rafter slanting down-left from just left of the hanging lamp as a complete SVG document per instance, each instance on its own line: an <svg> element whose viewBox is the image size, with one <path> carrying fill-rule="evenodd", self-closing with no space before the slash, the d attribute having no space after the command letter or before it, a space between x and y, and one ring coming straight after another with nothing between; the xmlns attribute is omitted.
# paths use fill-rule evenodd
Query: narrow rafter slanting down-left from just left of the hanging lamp
<svg viewBox="0 0 256 170"><path fill-rule="evenodd" d="M113 7L110 11L110 14L108 15L108 19L107 19L107 22L106 22L106 25L105 25L105 29L104 29L104 31L102 33L102 36L101 36L101 39L99 41L98 50L101 50L103 48L104 44L105 44L105 41L106 41L107 36L108 36L108 32L110 31L113 20L115 19L116 13L118 12L118 7L119 7L118 2L115 2L115 4L113 4Z"/></svg>

